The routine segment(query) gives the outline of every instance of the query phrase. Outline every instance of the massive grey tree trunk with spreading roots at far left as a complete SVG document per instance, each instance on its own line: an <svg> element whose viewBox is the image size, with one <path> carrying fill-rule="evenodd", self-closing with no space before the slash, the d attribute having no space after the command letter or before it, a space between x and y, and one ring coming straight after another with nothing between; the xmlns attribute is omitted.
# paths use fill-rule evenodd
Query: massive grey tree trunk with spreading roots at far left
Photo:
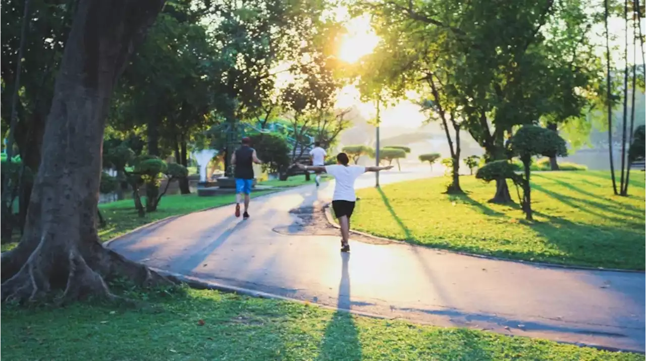
<svg viewBox="0 0 646 361"><path fill-rule="evenodd" d="M56 79L25 234L0 254L0 300L33 300L63 291L112 298L105 279L169 282L99 243L101 145L110 95L162 0L80 0Z"/></svg>

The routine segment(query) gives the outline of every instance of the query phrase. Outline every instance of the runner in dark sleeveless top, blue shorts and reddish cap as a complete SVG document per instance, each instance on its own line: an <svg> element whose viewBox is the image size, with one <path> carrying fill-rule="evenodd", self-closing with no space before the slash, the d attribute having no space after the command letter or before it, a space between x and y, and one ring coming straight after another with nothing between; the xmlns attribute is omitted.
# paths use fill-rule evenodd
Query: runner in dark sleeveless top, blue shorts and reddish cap
<svg viewBox="0 0 646 361"><path fill-rule="evenodd" d="M256 150L251 148L251 139L242 138L242 147L238 148L231 156L231 164L234 165L233 178L236 180L236 217L240 217L240 201L244 195L243 218L249 218L249 195L253 184L253 163L262 164L258 159Z"/></svg>

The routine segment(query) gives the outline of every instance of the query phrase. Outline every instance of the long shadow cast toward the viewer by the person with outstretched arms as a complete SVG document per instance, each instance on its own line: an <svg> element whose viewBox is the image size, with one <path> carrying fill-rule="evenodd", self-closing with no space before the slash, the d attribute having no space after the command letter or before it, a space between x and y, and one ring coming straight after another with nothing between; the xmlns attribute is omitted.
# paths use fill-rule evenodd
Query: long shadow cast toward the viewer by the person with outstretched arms
<svg viewBox="0 0 646 361"><path fill-rule="evenodd" d="M348 310L350 301L349 253L341 253L341 280L339 282L338 310L326 327L317 360L361 360L359 331Z"/></svg>

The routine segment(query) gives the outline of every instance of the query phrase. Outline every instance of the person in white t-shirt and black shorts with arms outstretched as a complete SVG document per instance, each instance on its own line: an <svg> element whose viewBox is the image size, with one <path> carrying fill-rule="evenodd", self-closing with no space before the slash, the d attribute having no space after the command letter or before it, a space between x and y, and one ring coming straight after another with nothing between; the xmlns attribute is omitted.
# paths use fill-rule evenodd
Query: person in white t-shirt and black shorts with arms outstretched
<svg viewBox="0 0 646 361"><path fill-rule="evenodd" d="M355 210L355 180L365 172L379 172L379 170L392 169L392 165L387 167L363 167L361 165L348 165L348 154L339 153L337 155L337 164L327 166L307 167L298 165L300 169L314 170L315 172L326 172L336 180L334 186L334 195L332 196L332 209L335 217L339 220L341 226L341 252L349 252L350 246L348 239L350 236L350 217Z"/></svg>

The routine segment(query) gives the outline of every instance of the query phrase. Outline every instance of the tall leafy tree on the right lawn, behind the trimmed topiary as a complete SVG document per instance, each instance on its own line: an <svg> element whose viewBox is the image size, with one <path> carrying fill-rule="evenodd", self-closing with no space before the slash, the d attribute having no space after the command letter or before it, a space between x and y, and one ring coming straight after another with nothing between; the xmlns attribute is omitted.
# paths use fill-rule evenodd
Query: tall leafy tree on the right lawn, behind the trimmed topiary
<svg viewBox="0 0 646 361"><path fill-rule="evenodd" d="M381 29L397 34L391 36L393 44L406 47L399 53L408 55L412 66L450 74L447 98L459 108L464 129L486 150L487 161L508 157L506 139L519 125L548 114L559 121L578 116L585 104L581 90L592 91L590 77L596 68L589 54L572 59L558 46L563 40L580 46L585 39L594 20L585 1L523 0L494 6L486 0L395 0L364 5L377 19L378 34ZM568 32L555 36L552 28ZM430 40L407 41L415 36ZM424 67L419 66L422 61ZM405 81L420 78L409 75ZM506 181L496 183L492 201L511 201Z"/></svg>

